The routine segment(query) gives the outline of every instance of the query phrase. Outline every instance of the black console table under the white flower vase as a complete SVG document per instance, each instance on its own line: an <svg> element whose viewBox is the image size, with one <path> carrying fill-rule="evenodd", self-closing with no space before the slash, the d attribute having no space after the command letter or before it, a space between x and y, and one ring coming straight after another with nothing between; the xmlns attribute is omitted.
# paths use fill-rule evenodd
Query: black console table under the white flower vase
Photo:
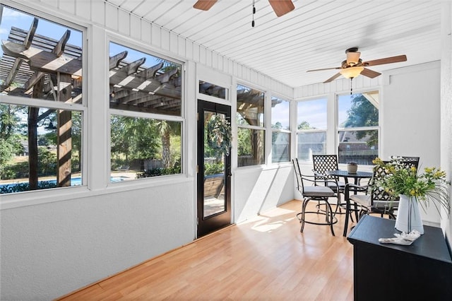
<svg viewBox="0 0 452 301"><path fill-rule="evenodd" d="M452 300L452 259L441 228L424 225L410 246L381 244L395 220L363 216L350 232L355 301Z"/></svg>

